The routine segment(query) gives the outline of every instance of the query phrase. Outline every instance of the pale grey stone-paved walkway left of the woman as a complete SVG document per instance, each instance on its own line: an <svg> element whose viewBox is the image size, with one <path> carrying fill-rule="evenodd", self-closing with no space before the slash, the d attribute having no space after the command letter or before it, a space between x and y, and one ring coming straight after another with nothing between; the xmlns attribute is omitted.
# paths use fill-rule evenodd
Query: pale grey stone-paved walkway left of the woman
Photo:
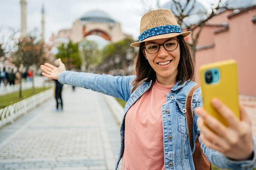
<svg viewBox="0 0 256 170"><path fill-rule="evenodd" d="M78 87L62 94L63 111L53 111L52 98L0 129L0 170L114 169L119 125L103 95Z"/></svg>

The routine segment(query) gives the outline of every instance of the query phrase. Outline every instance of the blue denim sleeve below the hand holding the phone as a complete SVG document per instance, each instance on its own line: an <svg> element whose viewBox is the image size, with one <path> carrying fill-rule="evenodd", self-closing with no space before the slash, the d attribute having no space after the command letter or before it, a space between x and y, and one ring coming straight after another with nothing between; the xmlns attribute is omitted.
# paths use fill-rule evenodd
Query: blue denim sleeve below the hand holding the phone
<svg viewBox="0 0 256 170"><path fill-rule="evenodd" d="M202 104L201 104L201 107L202 107ZM199 116L197 114L195 114L194 123L196 125L197 132L200 133L200 129L197 126L198 117ZM199 137L199 141L201 142L200 137ZM234 169L234 170L236 170L236 169L252 169L256 165L256 155L255 155L256 139L254 137L253 137L253 145L254 145L253 158L251 160L237 161L237 160L229 159L224 154L206 147L204 145L204 143L201 142L201 147L203 149L203 152L210 162L212 162L213 164L215 164L216 166L218 166L220 168Z"/></svg>

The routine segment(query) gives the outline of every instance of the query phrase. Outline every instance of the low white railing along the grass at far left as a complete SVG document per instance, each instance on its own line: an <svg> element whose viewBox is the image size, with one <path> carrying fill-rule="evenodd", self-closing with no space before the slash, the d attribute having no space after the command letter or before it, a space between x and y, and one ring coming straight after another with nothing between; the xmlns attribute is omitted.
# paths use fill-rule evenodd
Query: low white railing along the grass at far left
<svg viewBox="0 0 256 170"><path fill-rule="evenodd" d="M27 113L30 109L52 97L53 88L26 98L0 110L0 127L14 121L19 116Z"/></svg>

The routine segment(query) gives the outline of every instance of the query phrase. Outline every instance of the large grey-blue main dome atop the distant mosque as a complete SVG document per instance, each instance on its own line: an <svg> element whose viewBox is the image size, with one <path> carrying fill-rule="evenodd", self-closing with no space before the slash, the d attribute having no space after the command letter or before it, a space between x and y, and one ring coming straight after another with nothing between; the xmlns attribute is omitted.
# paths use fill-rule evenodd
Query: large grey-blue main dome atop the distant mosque
<svg viewBox="0 0 256 170"><path fill-rule="evenodd" d="M99 10L86 12L80 20L84 22L115 23L107 13Z"/></svg>

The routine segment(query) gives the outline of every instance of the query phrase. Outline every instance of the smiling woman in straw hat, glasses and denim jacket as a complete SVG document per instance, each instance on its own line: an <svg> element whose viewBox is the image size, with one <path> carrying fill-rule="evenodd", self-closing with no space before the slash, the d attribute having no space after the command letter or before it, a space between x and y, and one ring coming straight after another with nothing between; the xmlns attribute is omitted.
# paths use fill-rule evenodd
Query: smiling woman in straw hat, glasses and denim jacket
<svg viewBox="0 0 256 170"><path fill-rule="evenodd" d="M184 37L172 12L166 9L146 13L141 19L140 47L136 60L136 76L113 77L92 73L65 71L50 64L41 66L43 75L61 83L80 86L125 100L120 128L122 169L195 169L190 148L186 116L182 112L190 89L194 64ZM144 80L131 94L134 84ZM202 105L201 90L193 98L193 109ZM219 100L213 106L230 126L223 127L203 108L194 114L193 141L201 133L202 148L208 159L221 168L244 169L256 165L255 139L250 121L242 107L241 120ZM200 118L199 118L200 116ZM203 122L211 125L209 130ZM200 129L200 131L199 131ZM192 150L192 151L191 151Z"/></svg>

